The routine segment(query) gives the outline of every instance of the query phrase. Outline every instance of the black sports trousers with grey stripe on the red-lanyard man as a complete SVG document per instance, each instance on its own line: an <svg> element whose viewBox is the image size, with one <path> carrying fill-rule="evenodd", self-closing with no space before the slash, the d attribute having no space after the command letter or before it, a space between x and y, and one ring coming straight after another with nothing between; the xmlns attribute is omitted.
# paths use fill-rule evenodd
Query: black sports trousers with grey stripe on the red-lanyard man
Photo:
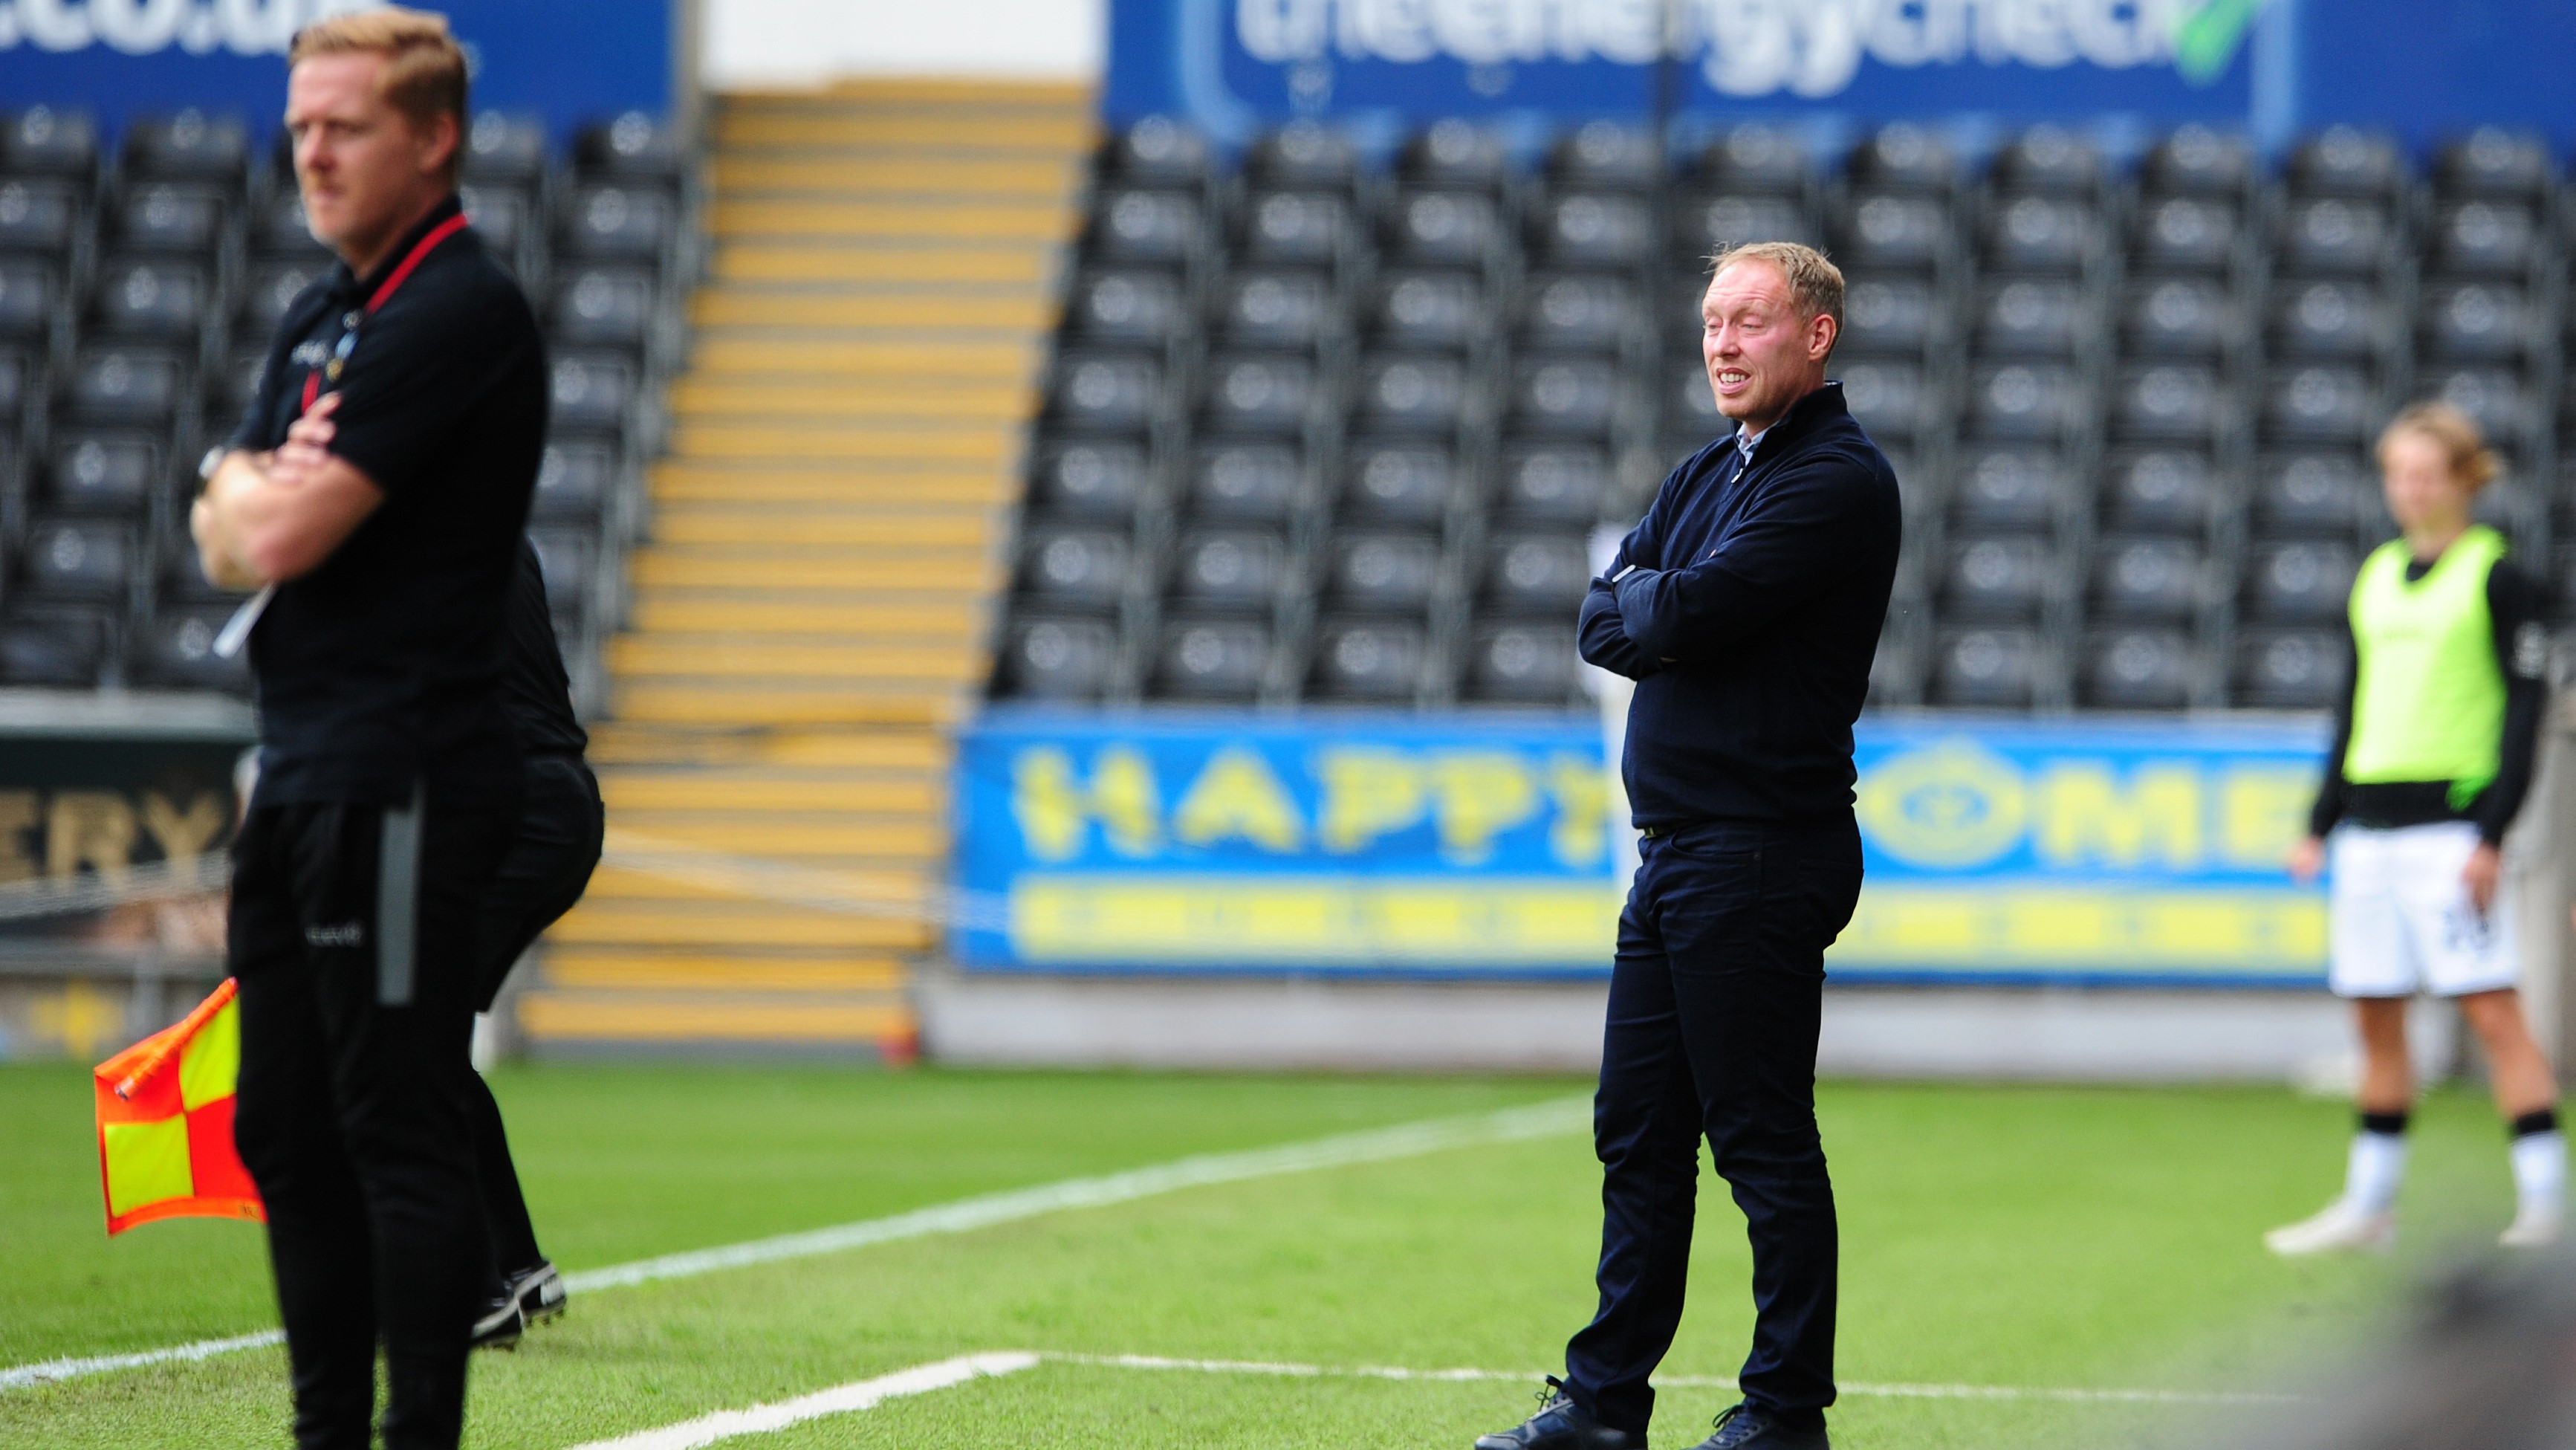
<svg viewBox="0 0 2576 1450"><path fill-rule="evenodd" d="M492 1249L469 1038L518 798L255 806L234 840L234 1144L268 1205L296 1445L453 1450Z"/></svg>

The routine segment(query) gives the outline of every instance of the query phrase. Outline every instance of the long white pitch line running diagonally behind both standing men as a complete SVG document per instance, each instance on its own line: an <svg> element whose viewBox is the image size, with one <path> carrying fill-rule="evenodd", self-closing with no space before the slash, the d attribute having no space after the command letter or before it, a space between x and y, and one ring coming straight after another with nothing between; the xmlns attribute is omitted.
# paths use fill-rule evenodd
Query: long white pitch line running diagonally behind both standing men
<svg viewBox="0 0 2576 1450"><path fill-rule="evenodd" d="M696 1275L711 1275L719 1270L775 1265L781 1259L811 1259L817 1254L840 1254L845 1249L866 1249L871 1244L891 1244L899 1239L966 1234L974 1229L992 1229L997 1223L1018 1223L1023 1218L1064 1213L1069 1208L1105 1208L1113 1203L1136 1203L1139 1198L1157 1198L1164 1192L1180 1192L1185 1187L1211 1187L1221 1182L1247 1182L1260 1177L1283 1177L1283 1174L1319 1172L1319 1169L1337 1169L1355 1164L1383 1164L1394 1159L1414 1159L1422 1154L1437 1154L1443 1149L1468 1149L1481 1144L1517 1144L1522 1138L1543 1138L1551 1133L1571 1133L1577 1128L1584 1128L1589 1123L1589 1113L1592 1113L1589 1097L1564 1097L1556 1102L1504 1107L1499 1113L1476 1113L1468 1118L1427 1118L1422 1123L1396 1123L1394 1128L1337 1133L1332 1138L1314 1138L1306 1144L1283 1144L1278 1149L1198 1154L1188 1159L1175 1159L1170 1164L1157 1164L1131 1172L1072 1177L1061 1182L1046 1182L1038 1187L1015 1187L1007 1192L961 1198L956 1203L914 1208L912 1213L894 1213L889 1218L840 1223L835 1229L811 1229L804 1234L781 1234L775 1239L752 1239L747 1244L726 1244L719 1249L662 1254L657 1259L636 1259L631 1265L611 1265L605 1270L585 1270L564 1275L564 1285L587 1293L587 1290L623 1288L654 1280L683 1280ZM113 1370L142 1370L149 1365L211 1360L216 1355L229 1355L237 1350L260 1350L265 1344L281 1344L281 1342L283 1334L268 1329L263 1334L240 1334L232 1339L198 1339L196 1344L173 1344L167 1350L144 1350L137 1355L98 1355L88 1360L46 1360L41 1365L15 1365L0 1370L0 1393L26 1386L49 1386L82 1375L103 1375Z"/></svg>

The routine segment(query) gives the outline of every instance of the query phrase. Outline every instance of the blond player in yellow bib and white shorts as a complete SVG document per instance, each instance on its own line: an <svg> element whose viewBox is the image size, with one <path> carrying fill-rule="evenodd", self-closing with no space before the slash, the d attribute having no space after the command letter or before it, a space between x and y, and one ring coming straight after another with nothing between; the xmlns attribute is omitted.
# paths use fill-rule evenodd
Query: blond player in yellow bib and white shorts
<svg viewBox="0 0 2576 1450"><path fill-rule="evenodd" d="M2406 1002L2450 997L2476 1028L2512 1123L2519 1208L2506 1247L2558 1239L2566 1138L2558 1084L2514 994L2514 901L2504 829L2532 783L2550 636L2540 587L2470 523L2496 458L2447 404L2409 407L2380 435L2401 536L2352 582L2352 670L2308 840L2290 873L2331 863L2331 984L2362 1033L2360 1131L2344 1195L2264 1234L2277 1254L2378 1249L2396 1239L2406 1169Z"/></svg>

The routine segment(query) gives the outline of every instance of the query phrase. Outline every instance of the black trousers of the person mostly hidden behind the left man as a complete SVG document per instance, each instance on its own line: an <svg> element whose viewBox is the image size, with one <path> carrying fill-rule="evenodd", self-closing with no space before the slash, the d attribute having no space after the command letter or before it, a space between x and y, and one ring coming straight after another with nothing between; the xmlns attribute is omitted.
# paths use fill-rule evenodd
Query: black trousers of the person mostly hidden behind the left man
<svg viewBox="0 0 2576 1450"><path fill-rule="evenodd" d="M528 943L590 889L590 873L600 865L600 783L582 757L531 755L518 834L484 894L477 1012L492 1010L500 984L510 979ZM515 1275L544 1262L544 1254L536 1247L536 1223L528 1221L528 1200L518 1190L518 1164L510 1162L500 1102L479 1071L469 1077L466 1110L474 1115L474 1167L482 1180L484 1229L492 1234L492 1267Z"/></svg>

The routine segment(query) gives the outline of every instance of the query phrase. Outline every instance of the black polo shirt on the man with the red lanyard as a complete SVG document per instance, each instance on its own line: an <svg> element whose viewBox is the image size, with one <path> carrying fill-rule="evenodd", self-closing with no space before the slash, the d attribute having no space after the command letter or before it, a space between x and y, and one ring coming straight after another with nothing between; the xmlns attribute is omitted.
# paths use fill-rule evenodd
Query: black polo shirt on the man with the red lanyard
<svg viewBox="0 0 2576 1450"><path fill-rule="evenodd" d="M286 440L307 381L340 394L330 451L384 505L301 579L278 585L250 636L260 804L402 801L518 788L502 708L505 605L546 438L536 314L469 229L392 273L451 216L443 201L376 268L332 273L286 309L234 448ZM337 379L330 361L355 343Z"/></svg>

